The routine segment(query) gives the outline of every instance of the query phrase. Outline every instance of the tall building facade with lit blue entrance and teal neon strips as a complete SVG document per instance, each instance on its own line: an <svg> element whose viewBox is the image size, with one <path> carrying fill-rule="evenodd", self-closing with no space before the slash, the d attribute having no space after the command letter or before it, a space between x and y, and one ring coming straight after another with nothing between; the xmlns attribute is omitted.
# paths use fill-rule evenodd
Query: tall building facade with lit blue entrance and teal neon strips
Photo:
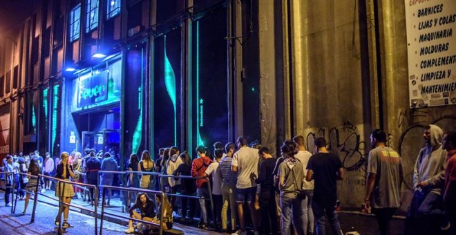
<svg viewBox="0 0 456 235"><path fill-rule="evenodd" d="M1 153L111 149L125 162L173 145L194 156L238 135L276 150L301 134L312 151L323 136L348 171L341 203L357 208L381 127L406 164L407 202L421 127L454 130L456 106L410 107L405 8L42 0L0 36Z"/></svg>

